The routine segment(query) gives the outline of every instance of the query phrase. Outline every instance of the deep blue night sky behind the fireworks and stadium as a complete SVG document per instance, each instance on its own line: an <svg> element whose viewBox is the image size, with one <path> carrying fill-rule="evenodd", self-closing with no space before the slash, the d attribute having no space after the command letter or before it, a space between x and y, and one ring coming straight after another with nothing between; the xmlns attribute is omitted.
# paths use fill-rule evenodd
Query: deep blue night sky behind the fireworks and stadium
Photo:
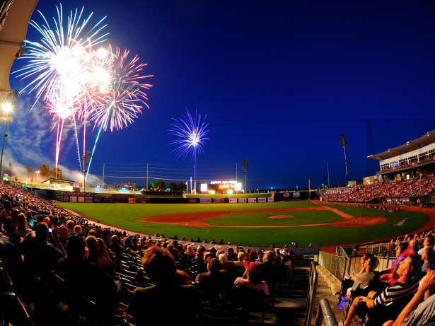
<svg viewBox="0 0 435 326"><path fill-rule="evenodd" d="M435 129L433 1L64 1L62 6L65 16L85 6L86 16L94 12L94 23L108 16L109 42L138 54L148 64L144 74L154 75L147 92L150 110L122 131L100 136L91 174L101 177L105 163L109 183L144 184L139 177L146 163L150 181L185 182L193 176L190 160L175 161L170 154L173 137L166 131L186 107L207 115L209 123L211 141L198 158L199 182L234 179L236 163L238 179L244 179L240 160L249 159L248 189L308 187L308 179L311 187L326 184L327 163L331 185L344 184L338 141L343 133L349 139L349 180L362 180L373 174L367 155ZM52 1L40 1L36 9L46 17L56 13ZM36 11L33 19L41 22ZM30 26L28 39L38 37ZM11 84L24 85L13 77ZM42 107L29 114L31 102L21 96L6 149L23 165L54 167L53 122ZM89 147L95 136L88 137ZM71 131L59 163L64 170L79 169ZM378 169L378 161L372 163Z"/></svg>

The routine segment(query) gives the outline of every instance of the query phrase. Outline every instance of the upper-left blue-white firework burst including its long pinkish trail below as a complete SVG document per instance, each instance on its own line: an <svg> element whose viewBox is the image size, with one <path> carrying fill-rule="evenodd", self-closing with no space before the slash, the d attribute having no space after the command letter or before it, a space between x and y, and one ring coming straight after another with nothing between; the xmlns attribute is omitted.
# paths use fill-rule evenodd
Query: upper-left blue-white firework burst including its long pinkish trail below
<svg viewBox="0 0 435 326"><path fill-rule="evenodd" d="M23 59L28 59L23 69L15 71L18 77L33 78L21 91L26 88L29 93L36 92L36 100L42 99L48 103L50 112L57 117L57 141L56 141L56 171L59 162L60 144L64 120L71 119L73 115L86 103L86 76L89 67L89 57L92 55L92 47L103 42L103 38L108 35L98 35L105 28L99 21L89 30L84 32L93 13L88 18L81 20L81 11L70 12L67 27L64 28L62 5L57 8L57 19L53 18L54 28L50 27L45 16L40 12L44 23L42 25L35 21L30 21L41 35L40 42L26 40L27 51ZM30 110L35 106L33 103ZM85 107L86 111L86 107ZM56 124L54 124L55 127ZM54 129L53 127L53 129Z"/></svg>

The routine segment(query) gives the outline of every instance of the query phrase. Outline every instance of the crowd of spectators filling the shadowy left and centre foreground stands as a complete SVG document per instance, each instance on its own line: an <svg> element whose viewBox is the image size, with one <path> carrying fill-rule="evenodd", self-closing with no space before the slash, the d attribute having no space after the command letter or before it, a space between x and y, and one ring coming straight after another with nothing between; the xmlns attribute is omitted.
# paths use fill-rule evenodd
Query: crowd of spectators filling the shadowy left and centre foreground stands
<svg viewBox="0 0 435 326"><path fill-rule="evenodd" d="M196 318L199 299L197 290L192 289L195 282L208 284L209 291L219 293L219 298L225 298L231 289L246 287L263 291L269 302L277 286L290 281L295 266L293 251L288 245L257 251L241 246L207 250L200 239L199 243L192 241L182 245L177 235L171 239L141 238L91 223L7 183L0 186L0 202L3 205L0 258L18 284L25 277L33 279L32 272L37 274L42 266L56 272L70 291L81 293L108 310L118 309L120 298L125 296L121 276L126 272L123 261L127 257L140 260L152 285L138 286L124 309L125 316L136 325L148 324L150 320L157 322L161 318L161 315L153 316L157 308L147 309L145 313L141 307L144 304L151 307L170 295L191 298L192 306L182 306L180 313L185 320ZM216 241L211 240L211 243ZM224 240L220 239L219 244L223 245ZM189 270L187 274L180 262L194 262L196 267L202 265L204 269L194 273ZM161 300L156 300L160 296Z"/></svg>

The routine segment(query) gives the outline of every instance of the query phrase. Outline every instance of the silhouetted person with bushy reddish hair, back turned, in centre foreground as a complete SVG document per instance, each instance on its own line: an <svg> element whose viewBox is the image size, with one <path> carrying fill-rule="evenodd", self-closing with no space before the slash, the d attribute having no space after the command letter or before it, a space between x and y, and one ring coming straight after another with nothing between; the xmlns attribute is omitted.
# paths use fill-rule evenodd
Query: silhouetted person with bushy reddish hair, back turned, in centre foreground
<svg viewBox="0 0 435 326"><path fill-rule="evenodd" d="M196 325L196 313L199 310L197 291L192 285L174 285L177 263L169 252L153 246L142 257L144 272L154 284L147 288L136 288L127 307L127 318L134 325ZM182 302L162 308L168 298L183 298Z"/></svg>

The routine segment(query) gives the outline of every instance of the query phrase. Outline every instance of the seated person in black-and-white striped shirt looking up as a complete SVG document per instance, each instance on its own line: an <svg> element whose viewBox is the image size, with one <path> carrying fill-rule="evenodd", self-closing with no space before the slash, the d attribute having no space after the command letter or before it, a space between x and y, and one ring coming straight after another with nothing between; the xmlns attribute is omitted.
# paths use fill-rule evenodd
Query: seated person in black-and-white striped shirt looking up
<svg viewBox="0 0 435 326"><path fill-rule="evenodd" d="M357 314L365 315L367 309L381 307L400 298L410 296L417 292L419 279L414 277L419 271L419 256L410 255L399 263L397 274L398 282L388 287L381 293L371 291L369 296L358 296L349 308L346 320L340 322L340 326L347 326ZM374 311L374 310L373 310ZM400 312L398 312L399 315Z"/></svg>

